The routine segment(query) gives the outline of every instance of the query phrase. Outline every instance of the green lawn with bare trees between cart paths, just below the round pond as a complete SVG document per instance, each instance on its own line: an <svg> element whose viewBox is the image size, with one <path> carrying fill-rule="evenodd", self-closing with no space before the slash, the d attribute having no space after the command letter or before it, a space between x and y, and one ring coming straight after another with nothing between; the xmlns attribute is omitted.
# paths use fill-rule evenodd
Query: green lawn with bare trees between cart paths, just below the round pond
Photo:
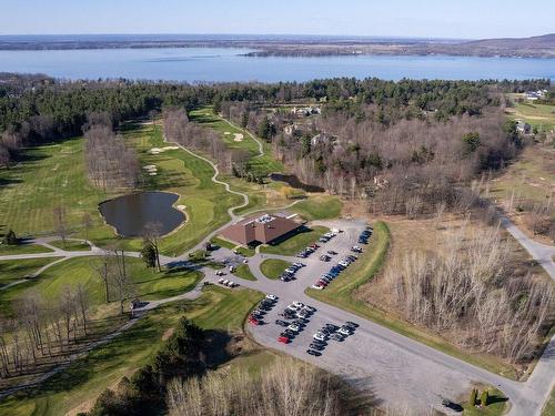
<svg viewBox="0 0 555 416"><path fill-rule="evenodd" d="M53 265L38 278L1 291L0 312L10 314L13 301L21 300L28 293L40 293L47 301L56 302L63 287L79 283L84 285L93 312L104 308L103 285L91 266L95 261L98 260L71 258ZM180 295L193 288L202 277L200 272L192 271L155 273L147 268L140 258L127 258L127 266L134 292L147 301ZM111 295L115 298L114 293Z"/></svg>

